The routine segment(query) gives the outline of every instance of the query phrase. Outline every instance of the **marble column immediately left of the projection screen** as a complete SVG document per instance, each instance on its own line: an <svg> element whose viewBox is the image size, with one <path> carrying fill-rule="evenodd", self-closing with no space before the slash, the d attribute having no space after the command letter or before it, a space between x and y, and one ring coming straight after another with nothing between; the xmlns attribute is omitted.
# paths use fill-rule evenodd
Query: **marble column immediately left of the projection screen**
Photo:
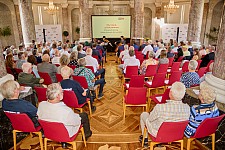
<svg viewBox="0 0 225 150"><path fill-rule="evenodd" d="M80 41L91 40L91 15L88 0L79 0L80 9Z"/></svg>

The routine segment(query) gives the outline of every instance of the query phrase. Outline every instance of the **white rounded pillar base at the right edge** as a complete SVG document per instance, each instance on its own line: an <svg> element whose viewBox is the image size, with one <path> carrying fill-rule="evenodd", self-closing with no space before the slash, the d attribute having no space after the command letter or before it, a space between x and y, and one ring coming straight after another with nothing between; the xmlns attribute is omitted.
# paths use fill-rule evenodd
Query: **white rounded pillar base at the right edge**
<svg viewBox="0 0 225 150"><path fill-rule="evenodd" d="M218 108L225 112L225 80L217 78L212 74L207 74L205 81L216 91L216 102Z"/></svg>

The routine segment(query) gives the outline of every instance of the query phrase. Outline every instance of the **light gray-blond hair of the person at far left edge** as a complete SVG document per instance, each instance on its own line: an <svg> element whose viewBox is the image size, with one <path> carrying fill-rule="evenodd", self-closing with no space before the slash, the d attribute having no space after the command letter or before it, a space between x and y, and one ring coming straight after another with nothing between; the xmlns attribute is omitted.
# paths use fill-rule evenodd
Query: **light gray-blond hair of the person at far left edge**
<svg viewBox="0 0 225 150"><path fill-rule="evenodd" d="M18 82L14 80L8 80L0 86L0 92L4 98L10 99L14 96L15 90L19 88L20 85Z"/></svg>

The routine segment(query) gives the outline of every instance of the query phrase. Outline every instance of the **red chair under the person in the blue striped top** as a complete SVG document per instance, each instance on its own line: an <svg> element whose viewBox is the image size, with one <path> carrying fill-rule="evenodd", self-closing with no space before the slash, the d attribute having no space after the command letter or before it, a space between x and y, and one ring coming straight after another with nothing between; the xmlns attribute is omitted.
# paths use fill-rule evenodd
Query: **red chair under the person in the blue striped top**
<svg viewBox="0 0 225 150"><path fill-rule="evenodd" d="M212 137L212 150L215 150L215 132L219 122L224 118L225 114L205 119L197 128L195 135L187 139L187 150L191 148L191 142L197 138L203 138L207 136Z"/></svg>

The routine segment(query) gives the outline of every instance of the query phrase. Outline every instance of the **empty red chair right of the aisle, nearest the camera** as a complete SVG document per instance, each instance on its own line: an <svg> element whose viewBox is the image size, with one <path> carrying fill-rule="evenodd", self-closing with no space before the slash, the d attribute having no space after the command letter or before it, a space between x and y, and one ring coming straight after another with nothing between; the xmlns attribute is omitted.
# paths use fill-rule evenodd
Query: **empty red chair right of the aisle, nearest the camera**
<svg viewBox="0 0 225 150"><path fill-rule="evenodd" d="M141 106L145 107L148 111L147 104L147 89L145 87L130 87L127 95L123 98L123 118L126 116L126 107L128 106Z"/></svg>

